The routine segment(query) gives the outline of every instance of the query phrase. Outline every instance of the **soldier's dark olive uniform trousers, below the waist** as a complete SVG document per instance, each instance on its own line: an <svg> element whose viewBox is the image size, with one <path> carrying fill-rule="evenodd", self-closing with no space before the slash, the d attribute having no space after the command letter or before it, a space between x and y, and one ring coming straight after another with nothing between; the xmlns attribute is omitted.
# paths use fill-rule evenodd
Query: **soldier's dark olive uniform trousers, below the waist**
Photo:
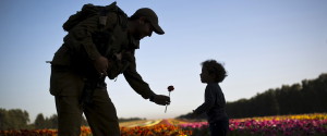
<svg viewBox="0 0 327 136"><path fill-rule="evenodd" d="M80 97L56 96L58 136L80 136L82 113L94 136L119 136L117 112L106 89L95 89L93 103L82 106Z"/></svg>

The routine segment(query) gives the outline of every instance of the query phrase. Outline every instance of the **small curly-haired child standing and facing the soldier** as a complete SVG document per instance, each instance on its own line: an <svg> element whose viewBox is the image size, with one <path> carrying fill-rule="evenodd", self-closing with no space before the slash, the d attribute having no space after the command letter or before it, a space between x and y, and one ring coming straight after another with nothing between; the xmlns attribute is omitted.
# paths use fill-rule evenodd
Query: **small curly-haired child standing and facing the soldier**
<svg viewBox="0 0 327 136"><path fill-rule="evenodd" d="M194 115L207 114L211 136L226 136L229 129L229 119L225 111L225 97L218 83L226 75L225 67L215 60L202 63L201 82L206 83L205 102L193 111Z"/></svg>

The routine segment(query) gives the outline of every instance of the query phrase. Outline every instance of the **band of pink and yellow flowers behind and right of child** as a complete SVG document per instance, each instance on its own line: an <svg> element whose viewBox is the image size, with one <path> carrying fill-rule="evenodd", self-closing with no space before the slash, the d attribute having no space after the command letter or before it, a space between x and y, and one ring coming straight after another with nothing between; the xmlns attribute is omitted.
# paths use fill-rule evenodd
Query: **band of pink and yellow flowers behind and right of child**
<svg viewBox="0 0 327 136"><path fill-rule="evenodd" d="M184 129L192 129L193 135L208 135L206 122L180 124ZM301 114L230 120L229 136L326 136L327 114Z"/></svg>

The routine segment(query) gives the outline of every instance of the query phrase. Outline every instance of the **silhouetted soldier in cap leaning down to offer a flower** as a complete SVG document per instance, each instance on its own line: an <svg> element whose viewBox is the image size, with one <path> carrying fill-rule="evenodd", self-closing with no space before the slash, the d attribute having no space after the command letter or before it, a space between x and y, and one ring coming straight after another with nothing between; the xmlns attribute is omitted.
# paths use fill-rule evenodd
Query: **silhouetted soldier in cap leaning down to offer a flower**
<svg viewBox="0 0 327 136"><path fill-rule="evenodd" d="M85 4L63 28L69 33L55 53L50 77L59 136L80 136L83 112L94 136L120 135L106 76L113 79L122 73L144 99L161 106L170 103L169 97L156 95L136 71L134 52L140 40L153 32L165 34L153 10L138 9L128 17L116 2L107 7Z"/></svg>

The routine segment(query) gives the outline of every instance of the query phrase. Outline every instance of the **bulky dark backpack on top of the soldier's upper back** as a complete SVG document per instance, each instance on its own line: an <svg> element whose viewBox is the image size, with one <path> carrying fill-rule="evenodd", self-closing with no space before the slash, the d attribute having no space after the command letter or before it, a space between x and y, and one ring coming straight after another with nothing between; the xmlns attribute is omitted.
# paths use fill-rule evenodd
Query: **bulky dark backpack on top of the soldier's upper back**
<svg viewBox="0 0 327 136"><path fill-rule="evenodd" d="M106 25L106 15L108 12L116 12L120 15L128 16L119 7L117 7L117 2L112 2L111 4L106 7L94 5L88 3L84 4L81 11L77 11L75 14L71 15L69 20L65 23L63 23L62 28L65 32L70 32L80 22L83 22L84 20L94 15L100 15L100 24Z"/></svg>

